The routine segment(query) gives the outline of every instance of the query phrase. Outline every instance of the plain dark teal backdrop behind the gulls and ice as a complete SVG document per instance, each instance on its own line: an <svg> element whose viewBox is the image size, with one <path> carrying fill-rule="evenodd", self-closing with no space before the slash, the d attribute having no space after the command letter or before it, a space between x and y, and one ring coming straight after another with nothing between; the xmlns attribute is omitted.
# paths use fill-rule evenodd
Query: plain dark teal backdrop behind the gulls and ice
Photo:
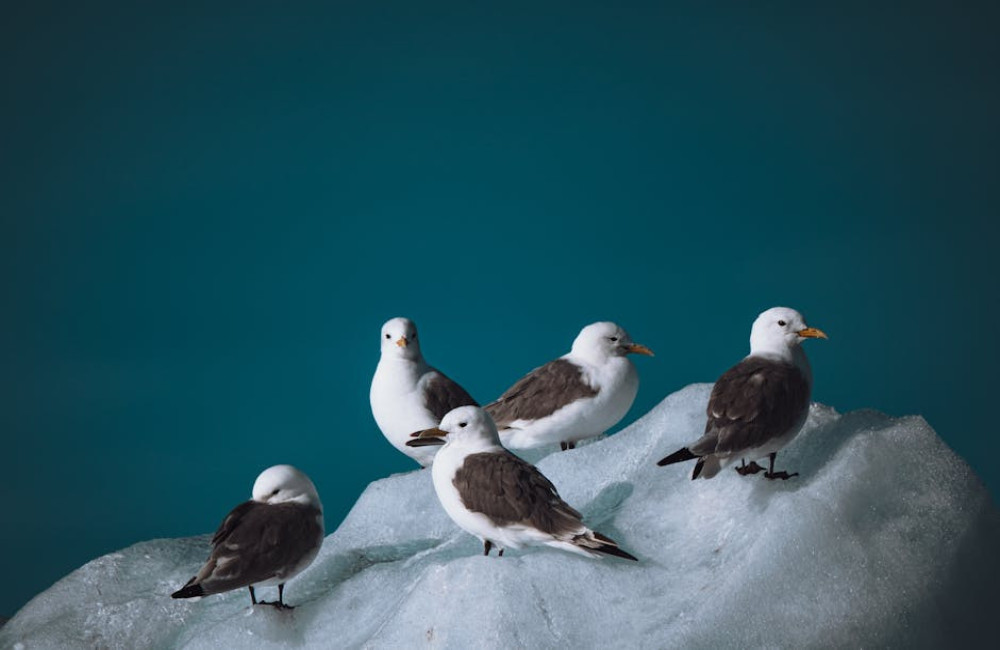
<svg viewBox="0 0 1000 650"><path fill-rule="evenodd" d="M830 334L814 399L924 415L995 496L998 26L972 2L5 4L0 614L214 530L274 463L332 531L415 467L368 407L397 315L482 401L615 320L657 353L628 423L793 306Z"/></svg>

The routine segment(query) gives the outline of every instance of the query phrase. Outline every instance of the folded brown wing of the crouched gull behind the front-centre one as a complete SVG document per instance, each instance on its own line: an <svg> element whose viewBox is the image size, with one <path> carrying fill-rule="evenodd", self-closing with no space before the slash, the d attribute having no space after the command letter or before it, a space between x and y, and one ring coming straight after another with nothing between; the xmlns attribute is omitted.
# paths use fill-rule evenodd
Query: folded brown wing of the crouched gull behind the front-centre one
<svg viewBox="0 0 1000 650"><path fill-rule="evenodd" d="M537 420L552 415L562 407L597 390L583 378L583 369L572 361L556 359L535 368L507 389L486 412L498 429L516 420Z"/></svg>

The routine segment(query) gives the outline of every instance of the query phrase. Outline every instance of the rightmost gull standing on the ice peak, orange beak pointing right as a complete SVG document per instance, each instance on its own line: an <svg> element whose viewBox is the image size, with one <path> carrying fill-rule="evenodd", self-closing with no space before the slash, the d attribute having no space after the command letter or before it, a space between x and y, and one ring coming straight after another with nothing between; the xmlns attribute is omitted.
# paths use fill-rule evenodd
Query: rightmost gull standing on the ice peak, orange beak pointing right
<svg viewBox="0 0 1000 650"><path fill-rule="evenodd" d="M750 354L727 370L708 400L705 435L670 454L657 465L698 459L692 479L712 478L737 458L742 475L764 468L756 458L768 457L769 479L798 473L774 471L774 458L805 424L812 393L812 370L801 347L806 339L827 338L807 327L802 314L787 307L768 309L753 323ZM750 458L749 465L746 459Z"/></svg>

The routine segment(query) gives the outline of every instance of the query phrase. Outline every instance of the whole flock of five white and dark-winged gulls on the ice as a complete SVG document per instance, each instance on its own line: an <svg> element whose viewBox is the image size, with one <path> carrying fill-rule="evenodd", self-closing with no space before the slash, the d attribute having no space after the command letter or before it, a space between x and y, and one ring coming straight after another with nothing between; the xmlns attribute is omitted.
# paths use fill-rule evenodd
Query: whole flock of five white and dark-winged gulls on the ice
<svg viewBox="0 0 1000 650"><path fill-rule="evenodd" d="M386 440L422 467L455 524L493 548L545 545L598 557L638 561L614 540L591 530L534 465L510 449L559 443L568 451L617 424L635 400L639 377L630 354L652 356L610 322L584 327L570 351L519 379L480 406L458 383L423 357L416 325L393 318L381 330L381 357L369 394L372 415ZM658 465L695 461L692 479L709 479L740 460L741 475L771 480L777 453L809 413L812 370L801 347L827 338L787 307L761 313L750 333L750 354L716 381L705 433ZM757 460L766 458L765 469ZM747 463L747 461L750 461ZM323 507L312 481L290 465L265 470L253 498L234 508L212 538L212 552L174 598L247 587L284 585L315 559L323 542Z"/></svg>

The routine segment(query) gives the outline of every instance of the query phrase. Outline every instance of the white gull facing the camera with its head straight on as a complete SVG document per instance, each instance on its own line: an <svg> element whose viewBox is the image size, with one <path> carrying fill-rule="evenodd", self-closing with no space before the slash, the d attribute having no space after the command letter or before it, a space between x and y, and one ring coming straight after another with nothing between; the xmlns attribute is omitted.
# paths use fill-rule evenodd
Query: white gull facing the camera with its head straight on
<svg viewBox="0 0 1000 650"><path fill-rule="evenodd" d="M454 408L478 404L461 386L427 365L413 321L386 321L381 339L382 358L369 393L372 415L393 447L426 467L437 449L407 447L410 435L437 426Z"/></svg>

